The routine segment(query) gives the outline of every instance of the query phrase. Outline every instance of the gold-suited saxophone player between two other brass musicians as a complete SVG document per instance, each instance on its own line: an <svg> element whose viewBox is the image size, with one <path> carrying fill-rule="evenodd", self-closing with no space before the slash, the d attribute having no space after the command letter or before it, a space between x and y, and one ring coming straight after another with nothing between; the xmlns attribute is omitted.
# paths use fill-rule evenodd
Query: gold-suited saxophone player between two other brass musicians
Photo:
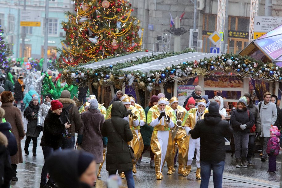
<svg viewBox="0 0 282 188"><path fill-rule="evenodd" d="M186 114L186 109L182 106L178 105L178 98L172 97L170 99L170 107L174 110L174 113L176 115L177 124L180 126L174 126L174 128L171 130L172 133L172 141L173 141L173 149L170 157L167 159L166 164L168 168L168 175L172 175L172 172L175 171L174 169L174 156L175 156L175 147L176 144L178 145L178 174L183 174L184 172L184 159L182 156L182 147L188 147L182 146L184 144L185 138L186 138L186 132L184 129L181 128L184 116Z"/></svg>

